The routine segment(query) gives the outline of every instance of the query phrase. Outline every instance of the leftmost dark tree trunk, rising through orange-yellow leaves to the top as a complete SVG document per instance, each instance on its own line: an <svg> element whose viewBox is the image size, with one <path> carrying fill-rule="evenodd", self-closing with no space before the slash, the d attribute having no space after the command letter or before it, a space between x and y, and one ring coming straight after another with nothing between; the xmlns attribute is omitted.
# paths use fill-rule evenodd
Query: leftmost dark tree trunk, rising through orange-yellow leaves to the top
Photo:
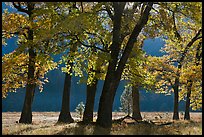
<svg viewBox="0 0 204 137"><path fill-rule="evenodd" d="M29 20L32 21L32 10L34 9L34 4L31 2L28 3L28 12ZM28 30L28 40L33 41L33 30ZM29 48L29 64L28 64L28 80L26 85L26 95L23 104L23 109L19 123L31 124L32 123L32 102L35 93L35 57L36 53L34 52L33 45Z"/></svg>

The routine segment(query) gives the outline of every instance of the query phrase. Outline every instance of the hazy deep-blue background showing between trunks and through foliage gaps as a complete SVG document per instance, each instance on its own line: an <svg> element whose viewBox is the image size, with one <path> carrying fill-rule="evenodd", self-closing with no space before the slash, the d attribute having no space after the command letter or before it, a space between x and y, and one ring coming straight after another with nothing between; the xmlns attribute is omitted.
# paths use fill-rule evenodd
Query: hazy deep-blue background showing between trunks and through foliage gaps
<svg viewBox="0 0 204 137"><path fill-rule="evenodd" d="M2 12L5 8L5 4L2 3ZM11 10L11 9L9 9ZM2 46L2 56L4 54L12 52L17 46L15 44L16 39L8 40L8 46ZM164 42L157 39L148 39L144 42L143 49L149 55L161 56L159 51L164 45ZM57 56L55 59L58 59ZM64 84L65 74L60 70L53 70L47 74L49 83L44 85L43 92L39 92L36 88L35 97L33 101L33 111L60 111L61 99ZM83 101L86 101L86 85L77 84L79 78L72 78L71 85L71 111L75 111L76 106ZM121 81L114 100L113 111L118 111L120 107L120 96L124 90L125 82ZM97 94L95 98L94 111L98 110L98 103L100 94L103 87L103 81L100 81L97 87ZM6 99L2 99L2 112L21 111L23 107L25 97L25 88L18 89L16 93L9 93ZM173 111L173 95L165 96L164 94L155 94L153 92L140 91L140 107L141 111ZM184 110L184 102L180 102L180 110Z"/></svg>

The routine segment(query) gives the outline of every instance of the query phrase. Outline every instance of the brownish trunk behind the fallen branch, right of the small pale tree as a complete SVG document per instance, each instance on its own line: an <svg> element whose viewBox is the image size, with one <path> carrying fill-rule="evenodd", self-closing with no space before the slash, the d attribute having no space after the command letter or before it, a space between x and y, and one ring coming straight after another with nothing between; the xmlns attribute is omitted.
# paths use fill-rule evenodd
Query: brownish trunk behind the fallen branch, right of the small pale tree
<svg viewBox="0 0 204 137"><path fill-rule="evenodd" d="M136 120L142 120L142 116L140 113L140 94L138 86L132 87L132 100L133 100L132 117Z"/></svg>

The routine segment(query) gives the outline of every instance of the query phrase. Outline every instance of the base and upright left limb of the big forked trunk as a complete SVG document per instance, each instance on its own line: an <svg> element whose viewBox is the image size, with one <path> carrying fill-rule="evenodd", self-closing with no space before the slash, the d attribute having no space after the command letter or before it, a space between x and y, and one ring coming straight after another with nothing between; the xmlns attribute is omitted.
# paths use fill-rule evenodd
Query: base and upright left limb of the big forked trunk
<svg viewBox="0 0 204 137"><path fill-rule="evenodd" d="M99 101L97 125L102 127L112 126L112 106L113 98L116 92L116 82L114 79L115 69L118 61L118 54L120 51L120 29L121 17L125 3L113 2L114 16L113 16L113 39L111 49L111 60L109 61L108 70L102 89L102 94Z"/></svg>

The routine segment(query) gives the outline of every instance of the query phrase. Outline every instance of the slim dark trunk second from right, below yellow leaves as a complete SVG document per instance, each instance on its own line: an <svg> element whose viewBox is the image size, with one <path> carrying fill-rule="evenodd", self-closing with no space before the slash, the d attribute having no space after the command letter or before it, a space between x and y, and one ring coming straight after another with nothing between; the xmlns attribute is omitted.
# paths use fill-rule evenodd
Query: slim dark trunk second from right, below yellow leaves
<svg viewBox="0 0 204 137"><path fill-rule="evenodd" d="M175 84L174 84L174 113L173 113L173 120L178 120L179 119L179 78L177 77L175 79Z"/></svg>

